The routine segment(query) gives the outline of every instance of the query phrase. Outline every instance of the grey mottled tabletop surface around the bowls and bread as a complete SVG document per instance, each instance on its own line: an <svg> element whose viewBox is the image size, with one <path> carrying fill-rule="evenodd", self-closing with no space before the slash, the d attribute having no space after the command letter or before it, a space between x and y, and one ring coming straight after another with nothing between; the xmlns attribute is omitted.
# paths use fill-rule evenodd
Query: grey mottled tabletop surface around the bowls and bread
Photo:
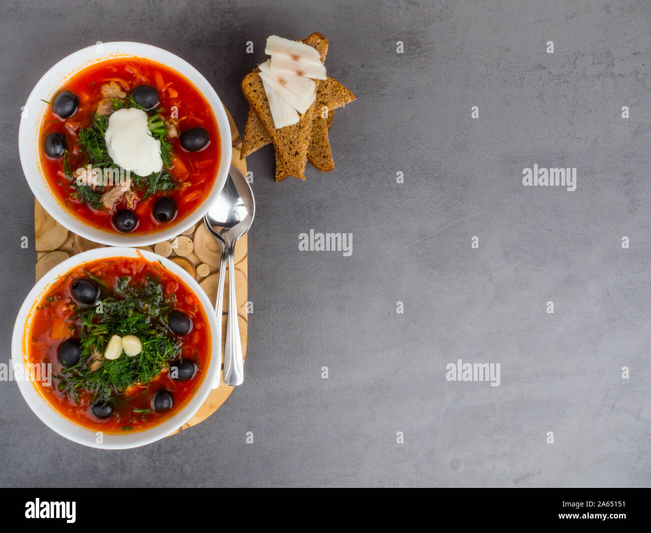
<svg viewBox="0 0 651 533"><path fill-rule="evenodd" d="M96 40L169 49L242 130L266 36L321 31L357 101L335 113L334 172L277 185L270 148L248 159L245 385L196 428L106 452L0 383L0 484L650 485L650 3L298 4L3 2L3 361L36 258L19 247L34 231L20 106L52 64ZM523 187L534 163L577 167L577 190ZM299 252L310 228L352 232L352 257ZM501 386L449 383L458 358L500 362Z"/></svg>

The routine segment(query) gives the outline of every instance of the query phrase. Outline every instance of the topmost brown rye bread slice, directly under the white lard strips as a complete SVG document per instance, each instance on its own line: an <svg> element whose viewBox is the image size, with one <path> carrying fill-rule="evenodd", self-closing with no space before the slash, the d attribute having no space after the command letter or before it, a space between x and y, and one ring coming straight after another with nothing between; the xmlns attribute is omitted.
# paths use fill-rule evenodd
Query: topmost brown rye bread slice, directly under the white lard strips
<svg viewBox="0 0 651 533"><path fill-rule="evenodd" d="M322 34L312 33L302 42L315 48L321 55L321 61L325 61L328 43ZM273 145L286 174L305 180L305 165L307 163L307 148L310 144L314 103L301 116L298 124L276 130L269 109L269 102L264 87L262 87L262 79L260 79L256 71L247 74L242 82L244 96L249 105L255 110L258 118L260 118L260 122L267 130L268 135L273 139ZM320 80L316 80L317 90L319 82ZM316 102L316 99L314 101Z"/></svg>

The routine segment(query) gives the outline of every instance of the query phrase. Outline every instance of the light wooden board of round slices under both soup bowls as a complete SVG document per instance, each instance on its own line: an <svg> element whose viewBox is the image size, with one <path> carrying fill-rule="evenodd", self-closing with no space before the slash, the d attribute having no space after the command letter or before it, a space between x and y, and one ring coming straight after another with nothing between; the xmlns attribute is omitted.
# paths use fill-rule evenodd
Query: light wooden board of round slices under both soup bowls
<svg viewBox="0 0 651 533"><path fill-rule="evenodd" d="M224 108L226 109L226 108ZM238 128L226 109L229 117L230 136L233 140L232 158L230 163L236 166L242 174L246 175L246 161L240 160L242 138ZM102 248L105 245L89 241L70 232L53 219L35 200L34 222L36 234L36 280L38 281L49 269L63 262L68 257L92 248ZM203 221L193 228L169 241L156 243L154 246L139 247L143 250L153 251L176 262L179 266L195 277L210 301L215 304L217 296L217 281L219 277L219 257L221 249L215 239L208 234ZM240 323L240 337L242 338L242 353L246 357L247 345L247 296L248 296L248 269L247 269L247 236L243 236L235 246L235 291L238 304L238 321ZM222 320L222 353L226 343L226 317L229 305L229 271L226 271L223 320ZM223 365L221 383L217 389L212 390L206 402L190 420L174 433L190 428L206 420L212 413L221 407L234 387L229 387L223 380ZM172 434L174 434L172 433Z"/></svg>

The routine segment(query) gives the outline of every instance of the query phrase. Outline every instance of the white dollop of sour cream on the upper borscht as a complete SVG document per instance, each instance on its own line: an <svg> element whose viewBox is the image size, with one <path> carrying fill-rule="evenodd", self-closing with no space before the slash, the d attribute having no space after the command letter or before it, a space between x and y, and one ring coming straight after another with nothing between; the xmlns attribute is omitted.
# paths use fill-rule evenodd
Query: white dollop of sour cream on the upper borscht
<svg viewBox="0 0 651 533"><path fill-rule="evenodd" d="M138 176L148 176L163 168L161 143L152 137L147 114L135 107L118 109L109 116L104 139L113 163Z"/></svg>

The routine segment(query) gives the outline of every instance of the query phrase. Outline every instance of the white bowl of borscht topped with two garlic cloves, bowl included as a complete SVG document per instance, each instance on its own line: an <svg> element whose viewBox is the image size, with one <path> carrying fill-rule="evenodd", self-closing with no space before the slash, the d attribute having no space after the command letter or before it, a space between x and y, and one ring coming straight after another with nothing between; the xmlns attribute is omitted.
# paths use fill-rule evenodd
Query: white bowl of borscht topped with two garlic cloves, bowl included
<svg viewBox="0 0 651 533"><path fill-rule="evenodd" d="M161 439L219 385L221 329L184 269L104 247L72 256L25 299L12 379L32 411L79 444L122 449Z"/></svg>

